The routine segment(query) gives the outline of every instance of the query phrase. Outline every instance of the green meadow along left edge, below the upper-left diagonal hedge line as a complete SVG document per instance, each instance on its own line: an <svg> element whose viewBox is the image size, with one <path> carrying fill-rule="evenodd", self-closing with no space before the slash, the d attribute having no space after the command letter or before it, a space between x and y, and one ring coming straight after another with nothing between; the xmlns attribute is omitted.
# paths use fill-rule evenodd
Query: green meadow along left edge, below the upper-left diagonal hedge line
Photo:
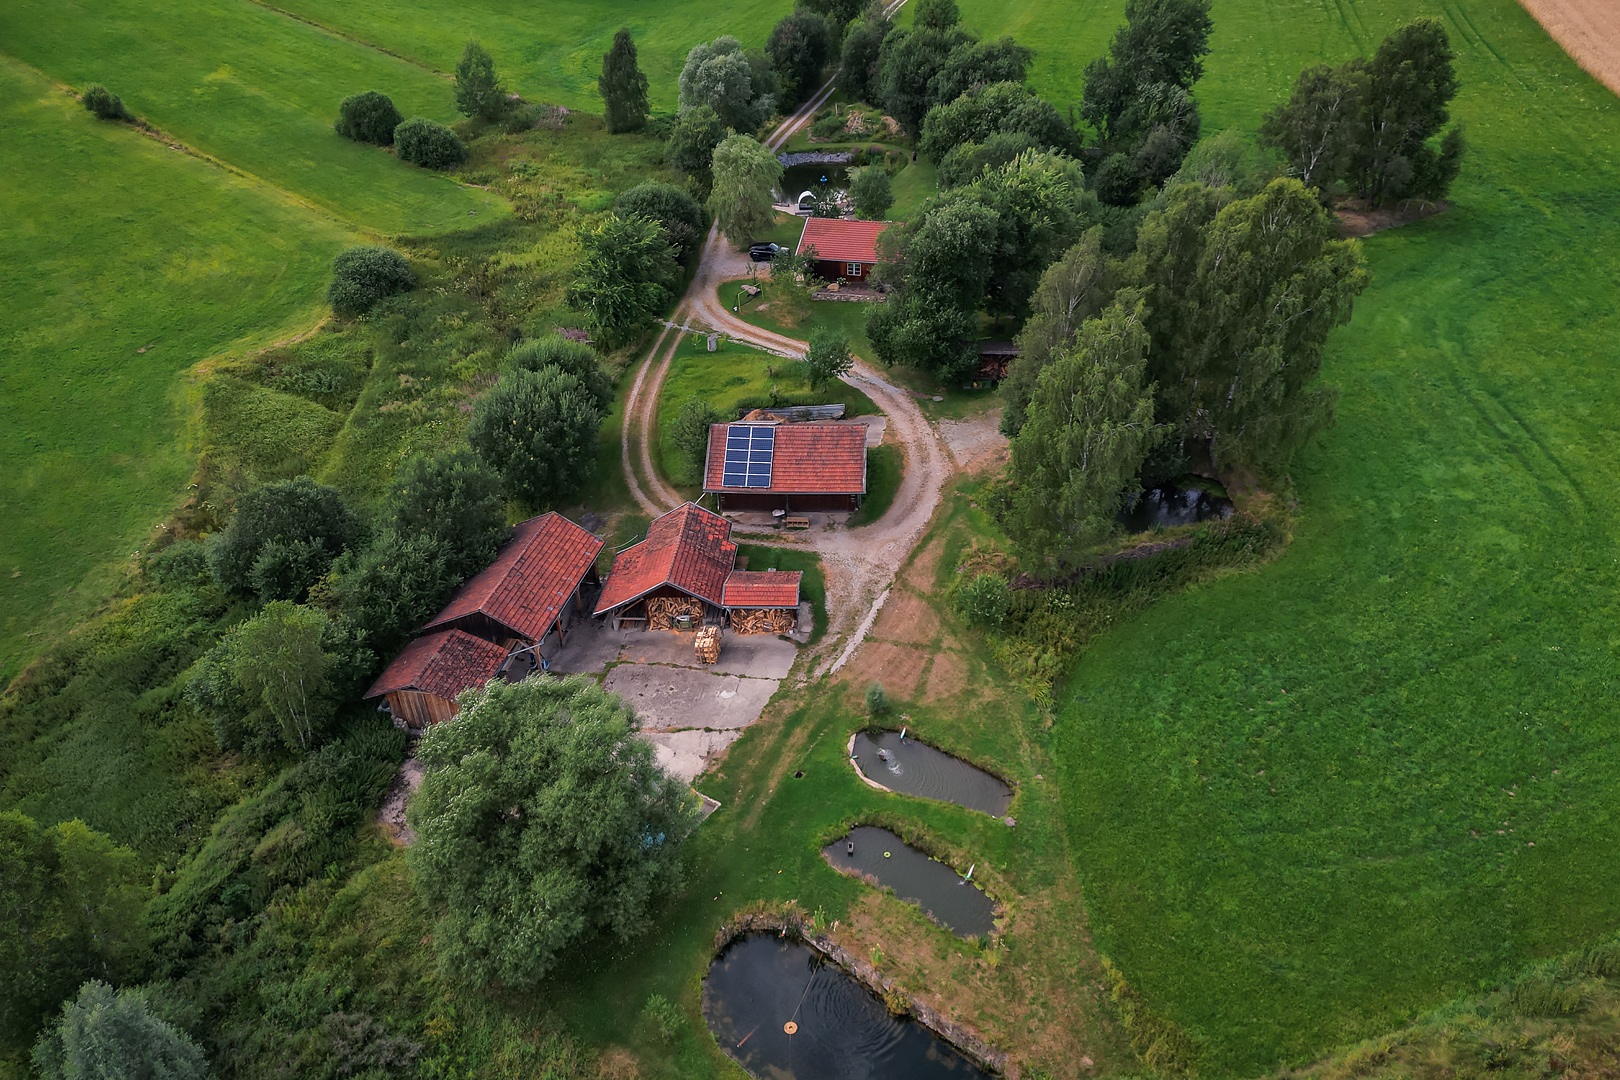
<svg viewBox="0 0 1620 1080"><path fill-rule="evenodd" d="M178 502L193 468L180 374L314 322L352 233L97 121L3 57L0 147L5 682Z"/></svg>

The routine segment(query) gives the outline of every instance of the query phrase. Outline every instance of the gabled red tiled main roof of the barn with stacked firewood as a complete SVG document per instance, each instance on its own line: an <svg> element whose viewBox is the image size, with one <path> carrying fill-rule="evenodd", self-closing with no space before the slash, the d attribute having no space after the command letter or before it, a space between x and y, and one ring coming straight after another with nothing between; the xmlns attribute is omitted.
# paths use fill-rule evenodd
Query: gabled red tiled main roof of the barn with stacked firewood
<svg viewBox="0 0 1620 1080"><path fill-rule="evenodd" d="M737 562L737 546L731 521L688 502L646 526L646 539L625 547L612 560L612 570L596 599L596 614L672 585L682 593L716 607L726 588L726 575Z"/></svg>

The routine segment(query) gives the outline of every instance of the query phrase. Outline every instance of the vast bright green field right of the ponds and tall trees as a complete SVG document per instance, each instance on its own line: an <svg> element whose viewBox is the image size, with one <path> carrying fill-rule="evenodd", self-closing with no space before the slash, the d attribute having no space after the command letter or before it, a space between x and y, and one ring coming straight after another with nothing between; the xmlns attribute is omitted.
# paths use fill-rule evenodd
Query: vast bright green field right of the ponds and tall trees
<svg viewBox="0 0 1620 1080"><path fill-rule="evenodd" d="M1116 5L967 0L1059 105ZM1095 18L1087 18L1089 15ZM1205 130L1416 15L1458 52L1453 207L1367 241L1374 283L1257 576L1100 640L1058 721L1103 952L1259 1074L1620 923L1615 665L1620 104L1510 0L1217 6Z"/></svg>

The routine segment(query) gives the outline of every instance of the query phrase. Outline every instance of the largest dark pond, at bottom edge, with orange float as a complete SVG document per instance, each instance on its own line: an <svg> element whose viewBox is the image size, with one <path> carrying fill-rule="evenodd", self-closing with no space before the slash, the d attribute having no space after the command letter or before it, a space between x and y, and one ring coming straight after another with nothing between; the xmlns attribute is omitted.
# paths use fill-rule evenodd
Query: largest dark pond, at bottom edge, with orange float
<svg viewBox="0 0 1620 1080"><path fill-rule="evenodd" d="M755 1077L969 1080L990 1074L805 944L744 934L714 957L703 1018Z"/></svg>

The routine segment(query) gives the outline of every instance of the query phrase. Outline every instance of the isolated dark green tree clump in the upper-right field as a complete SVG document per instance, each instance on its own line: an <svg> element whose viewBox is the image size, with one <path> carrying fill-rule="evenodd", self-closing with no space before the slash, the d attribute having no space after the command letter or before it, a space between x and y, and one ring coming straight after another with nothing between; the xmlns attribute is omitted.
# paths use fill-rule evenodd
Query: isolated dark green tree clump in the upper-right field
<svg viewBox="0 0 1620 1080"><path fill-rule="evenodd" d="M1458 91L1452 60L1445 26L1416 19L1385 37L1371 62L1301 71L1288 102L1267 113L1260 142L1281 151L1324 198L1343 183L1372 206L1443 199L1464 151L1461 125L1445 126Z"/></svg>

